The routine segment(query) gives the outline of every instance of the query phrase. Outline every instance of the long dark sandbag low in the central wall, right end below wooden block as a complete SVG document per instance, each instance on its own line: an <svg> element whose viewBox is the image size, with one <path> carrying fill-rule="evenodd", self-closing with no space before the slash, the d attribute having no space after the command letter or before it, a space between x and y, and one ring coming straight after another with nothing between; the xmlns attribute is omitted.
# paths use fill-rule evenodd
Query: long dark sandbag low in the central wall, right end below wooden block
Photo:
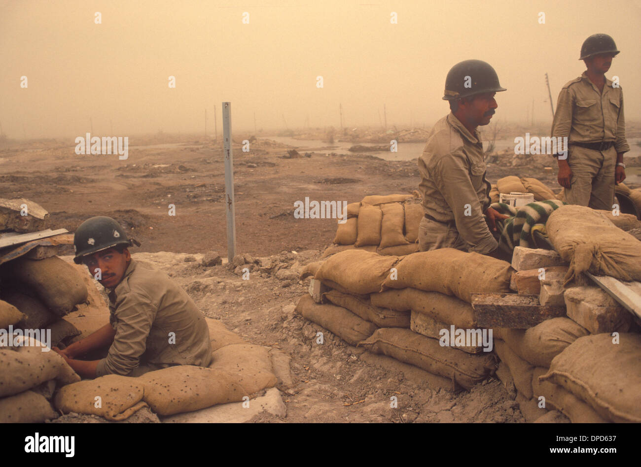
<svg viewBox="0 0 641 467"><path fill-rule="evenodd" d="M359 346L451 379L466 389L486 379L497 366L492 352L466 354L457 348L441 347L437 339L398 327L378 329Z"/></svg>

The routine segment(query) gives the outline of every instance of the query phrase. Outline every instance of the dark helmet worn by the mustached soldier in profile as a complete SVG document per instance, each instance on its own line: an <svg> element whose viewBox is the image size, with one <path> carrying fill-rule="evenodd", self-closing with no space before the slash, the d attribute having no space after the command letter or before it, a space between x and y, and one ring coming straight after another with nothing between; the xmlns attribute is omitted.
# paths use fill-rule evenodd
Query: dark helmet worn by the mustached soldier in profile
<svg viewBox="0 0 641 467"><path fill-rule="evenodd" d="M506 91L499 84L494 68L483 60L464 60L456 63L445 78L444 101L454 101L483 92Z"/></svg>

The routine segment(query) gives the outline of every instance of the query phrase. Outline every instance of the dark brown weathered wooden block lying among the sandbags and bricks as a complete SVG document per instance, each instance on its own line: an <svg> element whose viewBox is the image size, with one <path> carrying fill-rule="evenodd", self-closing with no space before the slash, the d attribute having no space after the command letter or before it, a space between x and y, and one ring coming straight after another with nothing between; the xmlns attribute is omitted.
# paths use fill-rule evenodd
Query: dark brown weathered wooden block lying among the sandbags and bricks
<svg viewBox="0 0 641 467"><path fill-rule="evenodd" d="M479 327L528 329L558 316L565 306L540 305L538 295L516 293L472 293L474 318Z"/></svg>

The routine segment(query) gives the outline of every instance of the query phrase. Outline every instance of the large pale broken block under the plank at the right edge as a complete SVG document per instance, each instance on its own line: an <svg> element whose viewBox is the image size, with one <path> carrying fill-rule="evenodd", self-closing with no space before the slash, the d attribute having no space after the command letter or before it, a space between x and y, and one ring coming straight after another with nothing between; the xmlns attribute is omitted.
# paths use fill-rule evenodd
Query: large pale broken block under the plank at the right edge
<svg viewBox="0 0 641 467"><path fill-rule="evenodd" d="M627 332L632 324L632 315L599 287L571 287L563 297L568 318L592 334Z"/></svg>

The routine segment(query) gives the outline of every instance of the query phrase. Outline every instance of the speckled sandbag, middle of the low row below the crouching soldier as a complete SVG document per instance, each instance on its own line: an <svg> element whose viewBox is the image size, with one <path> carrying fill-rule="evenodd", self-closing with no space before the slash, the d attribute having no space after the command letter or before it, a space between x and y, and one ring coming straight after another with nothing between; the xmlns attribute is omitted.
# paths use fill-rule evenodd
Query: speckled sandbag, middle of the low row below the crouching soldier
<svg viewBox="0 0 641 467"><path fill-rule="evenodd" d="M137 382L144 386L144 401L151 410L160 415L172 415L239 402L249 393L236 379L220 370L178 365L145 373Z"/></svg>

